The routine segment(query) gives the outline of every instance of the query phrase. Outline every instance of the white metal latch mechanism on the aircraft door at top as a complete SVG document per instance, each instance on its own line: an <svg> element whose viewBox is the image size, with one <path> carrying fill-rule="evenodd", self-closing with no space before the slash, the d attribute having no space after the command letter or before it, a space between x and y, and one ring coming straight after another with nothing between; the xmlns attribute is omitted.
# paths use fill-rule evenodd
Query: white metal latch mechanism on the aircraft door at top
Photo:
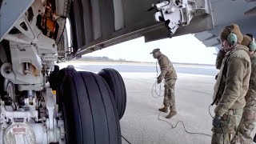
<svg viewBox="0 0 256 144"><path fill-rule="evenodd" d="M154 14L154 19L157 22L165 22L171 35L176 32L178 27L189 25L195 16L208 14L206 3L197 3L193 0L163 1L153 6L158 10Z"/></svg>

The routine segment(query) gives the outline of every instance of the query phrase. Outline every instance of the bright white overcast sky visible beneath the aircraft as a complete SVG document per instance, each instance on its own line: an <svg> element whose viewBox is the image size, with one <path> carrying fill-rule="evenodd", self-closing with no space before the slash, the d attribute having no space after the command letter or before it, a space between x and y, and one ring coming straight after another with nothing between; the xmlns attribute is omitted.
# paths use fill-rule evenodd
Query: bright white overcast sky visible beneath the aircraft
<svg viewBox="0 0 256 144"><path fill-rule="evenodd" d="M216 59L215 48L204 46L192 34L147 43L144 42L144 38L136 38L85 56L106 56L113 59L124 58L129 61L155 62L150 54L154 48L160 48L171 62L214 64Z"/></svg>

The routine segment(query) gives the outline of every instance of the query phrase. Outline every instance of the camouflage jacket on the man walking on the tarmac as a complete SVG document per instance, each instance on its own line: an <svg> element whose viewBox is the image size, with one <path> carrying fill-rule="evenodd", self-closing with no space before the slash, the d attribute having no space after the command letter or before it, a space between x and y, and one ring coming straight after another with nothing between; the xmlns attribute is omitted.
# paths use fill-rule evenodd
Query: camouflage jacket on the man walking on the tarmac
<svg viewBox="0 0 256 144"><path fill-rule="evenodd" d="M170 62L170 59L166 57L166 55L161 54L158 57L158 64L161 70L161 74L158 76L158 78L165 78L166 81L170 79L177 79L177 74L174 70L174 66Z"/></svg>

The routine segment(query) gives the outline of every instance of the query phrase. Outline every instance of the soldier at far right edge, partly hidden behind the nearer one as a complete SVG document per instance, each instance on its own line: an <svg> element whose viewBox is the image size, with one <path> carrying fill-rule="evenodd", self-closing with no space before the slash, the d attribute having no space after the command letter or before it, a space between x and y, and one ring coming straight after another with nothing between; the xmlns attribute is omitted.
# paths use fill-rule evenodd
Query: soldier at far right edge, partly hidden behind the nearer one
<svg viewBox="0 0 256 144"><path fill-rule="evenodd" d="M238 126L238 131L235 134L232 144L250 144L253 143L251 134L256 122L256 44L251 34L244 35L242 45L249 47L251 74L250 86L246 94L246 106L243 108L242 120Z"/></svg>

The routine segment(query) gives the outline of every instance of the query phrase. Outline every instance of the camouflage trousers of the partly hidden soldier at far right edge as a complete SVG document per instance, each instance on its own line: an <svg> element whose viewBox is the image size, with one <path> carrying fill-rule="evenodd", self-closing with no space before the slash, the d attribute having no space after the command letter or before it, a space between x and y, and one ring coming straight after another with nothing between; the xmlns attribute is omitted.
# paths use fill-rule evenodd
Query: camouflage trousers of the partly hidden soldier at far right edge
<svg viewBox="0 0 256 144"><path fill-rule="evenodd" d="M244 110L242 120L238 126L238 131L235 134L231 144L250 144L253 143L251 134L254 130L256 122L255 110Z"/></svg>

